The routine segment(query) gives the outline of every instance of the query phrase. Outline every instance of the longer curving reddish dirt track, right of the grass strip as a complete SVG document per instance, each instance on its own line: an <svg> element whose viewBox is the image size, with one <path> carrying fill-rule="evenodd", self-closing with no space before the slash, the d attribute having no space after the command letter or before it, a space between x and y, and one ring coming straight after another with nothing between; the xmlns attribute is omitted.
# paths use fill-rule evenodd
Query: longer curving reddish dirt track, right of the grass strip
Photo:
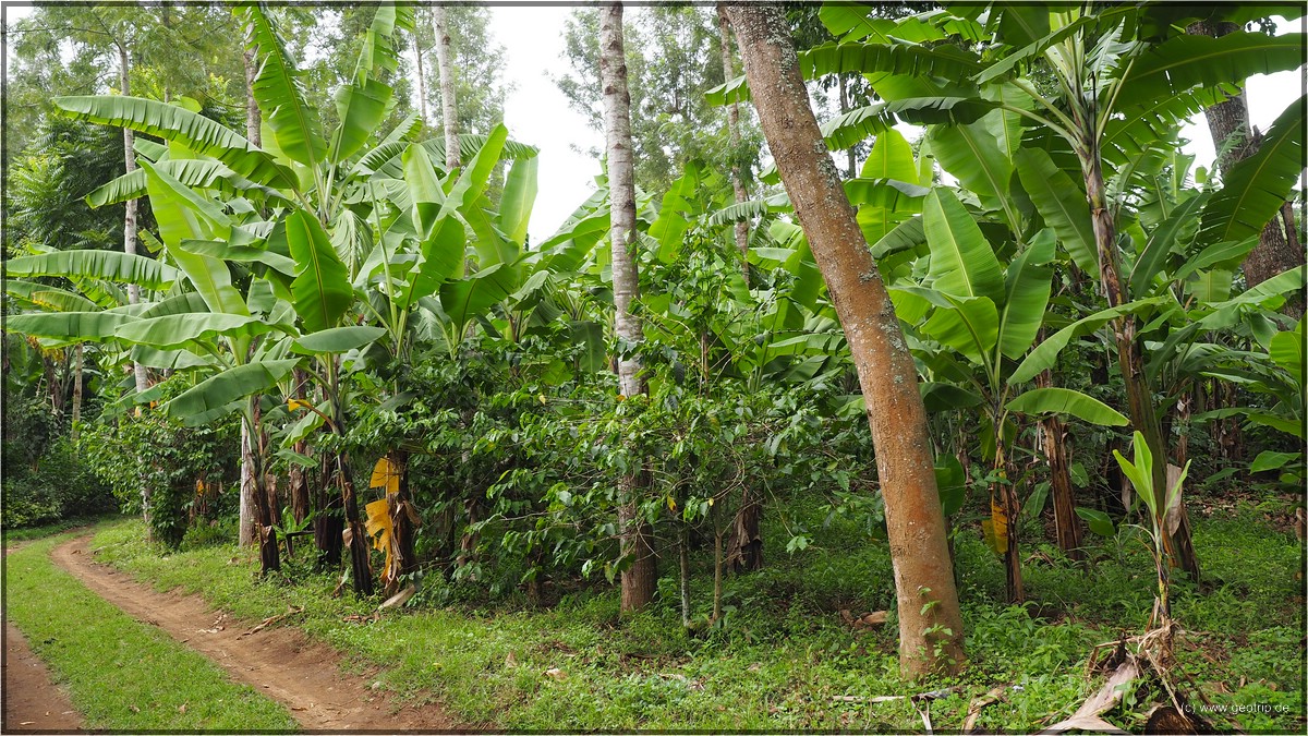
<svg viewBox="0 0 1308 736"><path fill-rule="evenodd" d="M455 723L439 708L395 706L369 680L340 671L341 656L290 627L243 635L252 623L211 610L199 596L158 593L129 575L99 564L88 537L54 549L56 564L128 616L158 626L205 655L235 680L249 682L290 708L306 729L443 731Z"/></svg>

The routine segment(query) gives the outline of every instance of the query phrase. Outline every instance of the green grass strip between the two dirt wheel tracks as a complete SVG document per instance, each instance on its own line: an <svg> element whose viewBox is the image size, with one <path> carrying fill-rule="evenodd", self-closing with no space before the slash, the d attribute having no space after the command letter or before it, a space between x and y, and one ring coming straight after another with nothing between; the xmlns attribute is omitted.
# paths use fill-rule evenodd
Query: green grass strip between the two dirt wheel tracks
<svg viewBox="0 0 1308 736"><path fill-rule="evenodd" d="M204 656L139 623L50 561L68 534L7 557L5 610L68 689L92 729L258 731L297 728L284 707L233 682Z"/></svg>

